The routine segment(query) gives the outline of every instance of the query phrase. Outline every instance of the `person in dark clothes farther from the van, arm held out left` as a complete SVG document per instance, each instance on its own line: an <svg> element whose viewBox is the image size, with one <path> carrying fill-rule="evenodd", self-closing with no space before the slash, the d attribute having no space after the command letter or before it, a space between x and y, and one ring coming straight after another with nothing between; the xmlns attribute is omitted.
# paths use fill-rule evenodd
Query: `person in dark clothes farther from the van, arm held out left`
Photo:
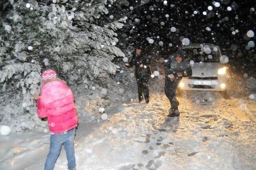
<svg viewBox="0 0 256 170"><path fill-rule="evenodd" d="M142 92L144 93L146 103L149 102L148 82L152 74L150 64L150 57L146 54L142 54L140 47L136 47L136 52L133 54L131 60L125 64L127 67L135 66L139 102L143 100Z"/></svg>

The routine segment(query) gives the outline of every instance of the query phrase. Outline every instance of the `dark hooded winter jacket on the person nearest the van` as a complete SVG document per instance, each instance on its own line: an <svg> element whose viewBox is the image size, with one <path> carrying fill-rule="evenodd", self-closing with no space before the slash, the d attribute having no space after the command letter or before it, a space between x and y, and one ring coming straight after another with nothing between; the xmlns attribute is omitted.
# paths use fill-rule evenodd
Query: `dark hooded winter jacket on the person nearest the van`
<svg viewBox="0 0 256 170"><path fill-rule="evenodd" d="M176 56L180 55L182 57L182 62L178 63L176 61ZM192 69L190 63L184 58L184 52L182 50L177 50L175 54L169 56L167 62L164 64L166 71L166 77L173 74L175 78L178 78L177 73L181 72L182 77L192 76Z"/></svg>

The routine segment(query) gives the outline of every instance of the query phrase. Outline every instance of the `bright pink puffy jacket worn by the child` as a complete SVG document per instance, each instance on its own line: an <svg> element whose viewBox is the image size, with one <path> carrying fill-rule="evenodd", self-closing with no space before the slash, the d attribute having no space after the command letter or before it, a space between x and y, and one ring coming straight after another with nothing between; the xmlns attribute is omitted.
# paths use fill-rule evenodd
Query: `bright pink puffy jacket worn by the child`
<svg viewBox="0 0 256 170"><path fill-rule="evenodd" d="M42 86L41 94L37 101L37 114L40 118L48 118L52 133L62 133L76 127L78 117L74 95L65 82L50 81Z"/></svg>

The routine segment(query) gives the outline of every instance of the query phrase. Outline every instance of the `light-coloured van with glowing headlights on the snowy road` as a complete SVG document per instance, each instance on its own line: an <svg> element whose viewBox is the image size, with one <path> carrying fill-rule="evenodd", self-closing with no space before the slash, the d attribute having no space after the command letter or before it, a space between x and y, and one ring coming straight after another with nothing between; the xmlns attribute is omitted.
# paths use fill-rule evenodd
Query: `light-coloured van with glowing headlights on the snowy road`
<svg viewBox="0 0 256 170"><path fill-rule="evenodd" d="M190 61L192 76L182 78L180 90L204 90L225 92L227 56L222 56L220 47L213 44L189 44L182 46L185 58ZM223 58L224 57L224 58ZM222 62L220 62L222 61Z"/></svg>

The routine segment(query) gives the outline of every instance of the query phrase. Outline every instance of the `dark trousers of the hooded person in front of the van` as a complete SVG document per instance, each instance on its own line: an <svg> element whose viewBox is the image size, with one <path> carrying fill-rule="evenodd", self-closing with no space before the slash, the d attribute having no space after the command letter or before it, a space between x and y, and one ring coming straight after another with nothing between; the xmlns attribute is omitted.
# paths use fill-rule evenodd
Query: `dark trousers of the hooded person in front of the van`
<svg viewBox="0 0 256 170"><path fill-rule="evenodd" d="M178 110L179 102L176 99L176 90L180 83L181 78L171 81L170 78L166 77L164 84L164 93L170 100L171 109Z"/></svg>

